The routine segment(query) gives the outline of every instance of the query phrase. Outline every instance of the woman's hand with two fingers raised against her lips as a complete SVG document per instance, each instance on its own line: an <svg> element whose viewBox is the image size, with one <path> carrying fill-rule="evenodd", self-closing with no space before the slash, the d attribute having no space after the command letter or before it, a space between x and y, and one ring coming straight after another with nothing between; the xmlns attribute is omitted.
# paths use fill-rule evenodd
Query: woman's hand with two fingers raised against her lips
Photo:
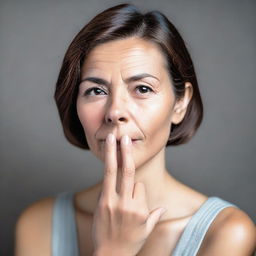
<svg viewBox="0 0 256 256"><path fill-rule="evenodd" d="M128 136L127 142L123 136L120 143L122 178L117 193L116 138L111 135L112 140L108 136L105 143L104 180L93 216L92 238L95 252L133 256L140 251L165 209L149 211L144 184L134 184L135 165Z"/></svg>

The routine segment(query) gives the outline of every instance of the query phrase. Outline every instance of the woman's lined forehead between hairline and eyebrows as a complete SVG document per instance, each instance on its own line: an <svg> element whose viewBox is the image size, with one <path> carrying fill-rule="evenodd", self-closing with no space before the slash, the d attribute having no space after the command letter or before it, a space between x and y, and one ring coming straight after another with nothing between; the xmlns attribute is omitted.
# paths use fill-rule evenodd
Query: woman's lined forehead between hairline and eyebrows
<svg viewBox="0 0 256 256"><path fill-rule="evenodd" d="M166 72L166 60L157 44L131 37L96 46L87 56L82 73L109 74L110 70L120 71L124 76L140 71L160 76Z"/></svg>

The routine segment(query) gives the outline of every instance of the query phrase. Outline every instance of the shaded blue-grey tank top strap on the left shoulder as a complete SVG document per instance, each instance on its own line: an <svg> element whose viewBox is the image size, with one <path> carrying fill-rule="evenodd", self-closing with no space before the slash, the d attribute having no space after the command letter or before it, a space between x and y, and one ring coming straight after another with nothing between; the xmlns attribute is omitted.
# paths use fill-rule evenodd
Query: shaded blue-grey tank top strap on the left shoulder
<svg viewBox="0 0 256 256"><path fill-rule="evenodd" d="M56 196L52 217L53 256L79 256L73 198L71 192Z"/></svg>

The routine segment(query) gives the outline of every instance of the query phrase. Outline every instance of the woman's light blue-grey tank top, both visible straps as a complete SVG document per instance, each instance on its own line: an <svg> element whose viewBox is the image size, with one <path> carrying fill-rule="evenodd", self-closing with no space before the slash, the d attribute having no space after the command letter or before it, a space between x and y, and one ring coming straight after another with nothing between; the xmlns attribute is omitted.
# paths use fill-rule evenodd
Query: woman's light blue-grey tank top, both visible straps
<svg viewBox="0 0 256 256"><path fill-rule="evenodd" d="M73 193L57 195L52 218L52 256L79 256ZM236 207L219 197L209 197L186 225L172 256L195 256L217 214Z"/></svg>

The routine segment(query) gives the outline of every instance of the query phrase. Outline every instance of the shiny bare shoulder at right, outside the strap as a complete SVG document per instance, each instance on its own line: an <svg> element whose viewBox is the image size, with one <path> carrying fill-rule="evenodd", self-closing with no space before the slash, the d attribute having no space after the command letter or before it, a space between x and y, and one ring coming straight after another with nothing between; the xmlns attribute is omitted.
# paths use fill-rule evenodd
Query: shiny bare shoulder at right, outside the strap
<svg viewBox="0 0 256 256"><path fill-rule="evenodd" d="M227 207L210 226L198 255L251 256L255 251L256 228L242 210Z"/></svg>

